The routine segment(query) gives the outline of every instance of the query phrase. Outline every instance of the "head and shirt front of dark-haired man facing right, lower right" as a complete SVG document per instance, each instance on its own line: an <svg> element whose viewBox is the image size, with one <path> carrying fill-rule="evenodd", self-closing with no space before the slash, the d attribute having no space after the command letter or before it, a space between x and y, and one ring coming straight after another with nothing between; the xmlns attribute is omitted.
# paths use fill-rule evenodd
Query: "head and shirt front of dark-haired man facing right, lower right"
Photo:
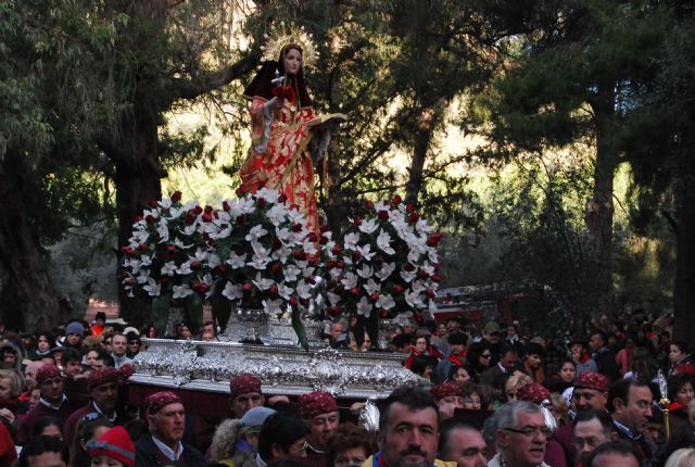
<svg viewBox="0 0 695 467"><path fill-rule="evenodd" d="M622 379L608 390L608 412L618 438L629 441L648 467L655 465L656 453L656 446L644 436L653 400L652 389L644 381Z"/></svg>

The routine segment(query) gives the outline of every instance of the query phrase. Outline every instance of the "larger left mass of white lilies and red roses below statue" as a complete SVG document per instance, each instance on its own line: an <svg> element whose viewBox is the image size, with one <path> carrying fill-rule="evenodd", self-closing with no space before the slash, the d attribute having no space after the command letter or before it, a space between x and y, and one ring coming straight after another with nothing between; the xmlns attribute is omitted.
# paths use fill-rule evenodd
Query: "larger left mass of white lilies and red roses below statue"
<svg viewBox="0 0 695 467"><path fill-rule="evenodd" d="M295 325L318 270L317 235L285 194L238 194L218 207L182 204L179 191L151 201L121 249L127 293L201 306L210 300L213 312L230 303L266 314L289 311Z"/></svg>

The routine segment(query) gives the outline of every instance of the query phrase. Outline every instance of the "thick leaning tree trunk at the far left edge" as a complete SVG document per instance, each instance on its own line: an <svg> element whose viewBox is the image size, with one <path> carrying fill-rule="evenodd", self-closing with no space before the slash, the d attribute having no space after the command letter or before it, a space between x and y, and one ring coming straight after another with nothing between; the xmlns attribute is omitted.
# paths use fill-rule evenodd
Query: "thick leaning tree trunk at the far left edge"
<svg viewBox="0 0 695 467"><path fill-rule="evenodd" d="M70 304L59 300L25 213L18 180L0 166L0 319L8 328L52 329L70 317Z"/></svg>

